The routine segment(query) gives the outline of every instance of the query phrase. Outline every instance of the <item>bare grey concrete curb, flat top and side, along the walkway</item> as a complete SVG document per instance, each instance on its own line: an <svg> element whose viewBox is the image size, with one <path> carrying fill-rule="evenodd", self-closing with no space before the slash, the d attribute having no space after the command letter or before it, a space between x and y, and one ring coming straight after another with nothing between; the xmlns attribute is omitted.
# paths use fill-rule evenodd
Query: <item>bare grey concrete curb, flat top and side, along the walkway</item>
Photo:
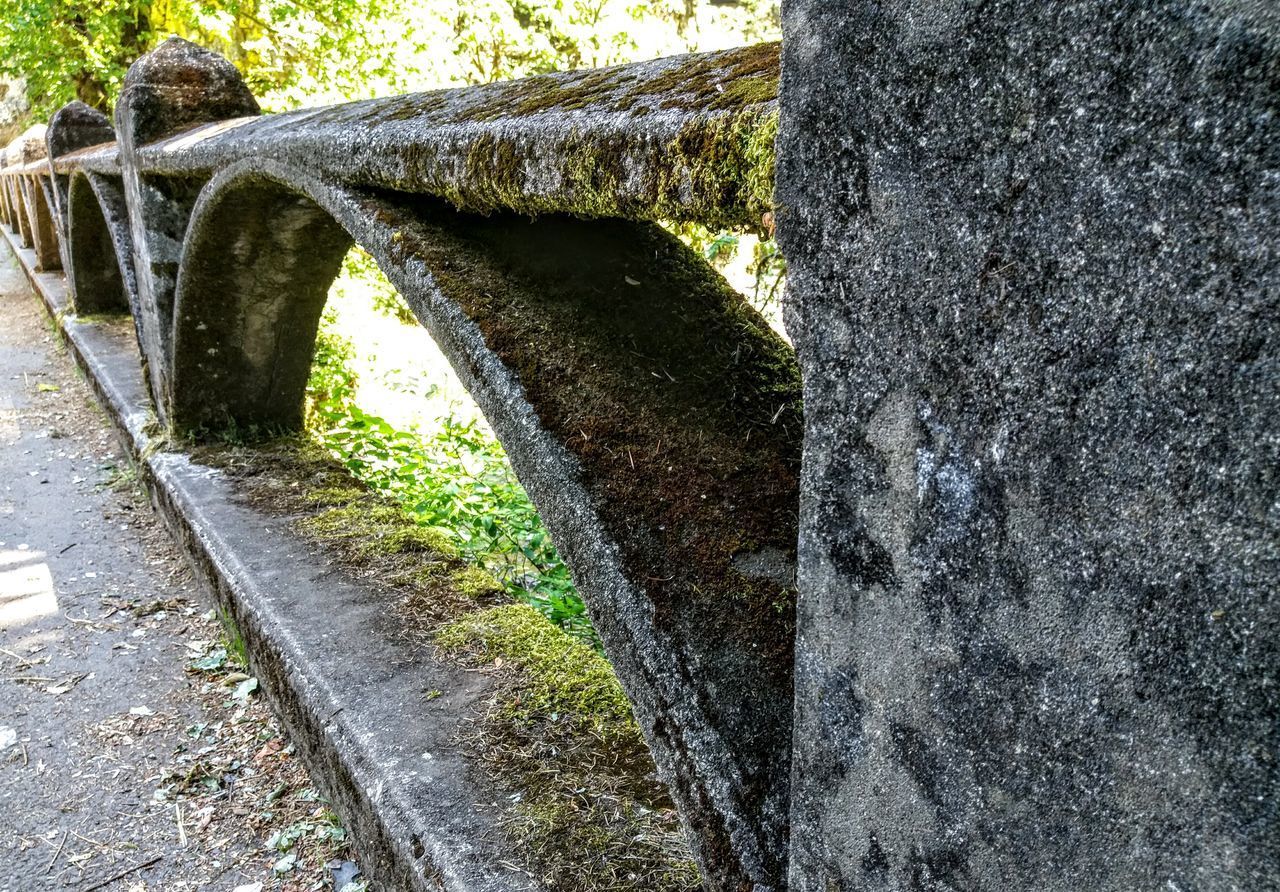
<svg viewBox="0 0 1280 892"><path fill-rule="evenodd" d="M374 888L540 888L509 863L503 793L467 769L454 731L489 681L439 664L398 635L393 596L344 576L289 520L237 499L220 471L164 452L132 331L68 314L60 273L3 229L99 402L137 462L152 504L244 636L252 671L361 855ZM428 691L443 691L428 701Z"/></svg>

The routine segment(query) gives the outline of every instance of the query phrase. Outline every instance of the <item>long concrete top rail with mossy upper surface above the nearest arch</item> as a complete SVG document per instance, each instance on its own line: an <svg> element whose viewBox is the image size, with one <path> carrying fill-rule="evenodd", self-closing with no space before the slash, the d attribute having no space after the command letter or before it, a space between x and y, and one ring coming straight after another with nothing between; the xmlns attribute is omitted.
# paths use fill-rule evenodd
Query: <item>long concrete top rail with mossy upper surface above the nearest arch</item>
<svg viewBox="0 0 1280 892"><path fill-rule="evenodd" d="M773 189L777 78L778 46L765 44L220 122L148 146L137 164L207 179L271 157L479 212L758 225ZM58 169L73 165L119 173L119 152L86 150Z"/></svg>

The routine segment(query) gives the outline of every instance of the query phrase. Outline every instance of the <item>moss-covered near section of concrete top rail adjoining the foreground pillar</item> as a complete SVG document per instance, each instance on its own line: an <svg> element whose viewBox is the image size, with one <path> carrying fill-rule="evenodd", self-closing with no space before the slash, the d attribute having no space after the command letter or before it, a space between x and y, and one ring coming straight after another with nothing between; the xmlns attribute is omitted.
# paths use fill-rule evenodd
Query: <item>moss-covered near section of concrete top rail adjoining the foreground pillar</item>
<svg viewBox="0 0 1280 892"><path fill-rule="evenodd" d="M415 141L399 187L484 214L758 225L772 210L778 45L648 65L458 93L430 115L458 136ZM526 123L550 113L563 115L553 128Z"/></svg>

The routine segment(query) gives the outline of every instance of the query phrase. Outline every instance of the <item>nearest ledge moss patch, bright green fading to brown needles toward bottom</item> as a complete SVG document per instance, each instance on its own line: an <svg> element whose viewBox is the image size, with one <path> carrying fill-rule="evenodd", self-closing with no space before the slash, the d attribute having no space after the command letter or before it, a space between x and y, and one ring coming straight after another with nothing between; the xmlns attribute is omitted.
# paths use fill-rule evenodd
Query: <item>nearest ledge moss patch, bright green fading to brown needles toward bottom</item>
<svg viewBox="0 0 1280 892"><path fill-rule="evenodd" d="M503 823L543 888L700 888L676 811L599 654L524 604L462 617L436 644L475 663L502 662L499 694L466 744L513 791Z"/></svg>

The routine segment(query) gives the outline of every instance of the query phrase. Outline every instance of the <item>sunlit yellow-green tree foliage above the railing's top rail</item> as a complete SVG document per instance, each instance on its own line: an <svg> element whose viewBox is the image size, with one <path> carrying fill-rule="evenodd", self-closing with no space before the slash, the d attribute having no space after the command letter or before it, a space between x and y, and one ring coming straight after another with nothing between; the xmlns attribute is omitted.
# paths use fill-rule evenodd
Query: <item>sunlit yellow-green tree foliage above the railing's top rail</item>
<svg viewBox="0 0 1280 892"><path fill-rule="evenodd" d="M108 110L170 35L216 50L268 110L594 68L777 36L774 0L0 0L0 76L36 118Z"/></svg>

